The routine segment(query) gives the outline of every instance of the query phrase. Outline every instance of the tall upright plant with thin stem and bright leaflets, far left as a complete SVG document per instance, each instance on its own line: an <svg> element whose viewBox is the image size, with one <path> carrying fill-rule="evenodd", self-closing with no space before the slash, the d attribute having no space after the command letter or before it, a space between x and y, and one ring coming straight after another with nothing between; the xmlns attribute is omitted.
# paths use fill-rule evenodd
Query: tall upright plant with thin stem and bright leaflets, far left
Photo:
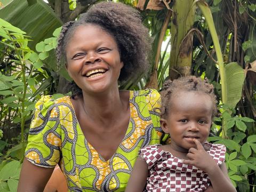
<svg viewBox="0 0 256 192"><path fill-rule="evenodd" d="M0 74L0 81L4 85L0 91L0 94L4 95L1 103L3 107L17 108L17 116L20 119L16 119L16 122L21 122L21 142L23 142L25 140L23 135L25 120L31 116L35 105L35 98L31 97L33 91L27 89L29 86L27 79L31 78L35 70L39 70L41 73L43 70L41 67L34 66L39 59L37 61L30 60L31 55L34 56L36 53L27 46L29 39L24 35L24 31L2 19L0 19L0 30L4 34L1 43L7 46L7 52L14 53L15 58L12 59L12 62L19 68L19 71L9 76Z"/></svg>

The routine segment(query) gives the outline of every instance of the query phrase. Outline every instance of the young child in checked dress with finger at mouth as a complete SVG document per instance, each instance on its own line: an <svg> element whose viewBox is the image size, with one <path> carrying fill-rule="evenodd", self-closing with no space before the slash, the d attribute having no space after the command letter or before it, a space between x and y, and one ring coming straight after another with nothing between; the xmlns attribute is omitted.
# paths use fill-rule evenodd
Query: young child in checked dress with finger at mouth
<svg viewBox="0 0 256 192"><path fill-rule="evenodd" d="M206 142L217 111L213 85L182 77L167 81L161 94L161 126L171 143L139 151L125 191L236 191L224 163L226 147Z"/></svg>

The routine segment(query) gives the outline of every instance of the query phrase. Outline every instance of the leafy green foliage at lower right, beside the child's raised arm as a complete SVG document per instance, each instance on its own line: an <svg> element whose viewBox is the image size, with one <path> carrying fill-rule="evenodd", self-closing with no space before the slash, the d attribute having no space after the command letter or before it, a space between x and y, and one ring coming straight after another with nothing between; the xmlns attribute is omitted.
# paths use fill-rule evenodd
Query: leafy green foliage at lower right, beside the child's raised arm
<svg viewBox="0 0 256 192"><path fill-rule="evenodd" d="M256 153L256 134L252 134L246 139L245 132L248 131L248 125L253 125L254 120L248 117L234 116L230 114L230 109L227 105L220 107L222 116L215 118L215 124L212 126L212 130L215 134L221 134L216 124L221 123L223 118L226 121L227 132L226 137L209 137L209 141L214 143L221 143L227 147L226 153L226 165L229 170L229 177L237 187L237 182L242 181L244 175L250 174L251 171L256 170L256 161L253 153ZM219 127L220 129L220 127ZM238 182L239 183L239 182Z"/></svg>

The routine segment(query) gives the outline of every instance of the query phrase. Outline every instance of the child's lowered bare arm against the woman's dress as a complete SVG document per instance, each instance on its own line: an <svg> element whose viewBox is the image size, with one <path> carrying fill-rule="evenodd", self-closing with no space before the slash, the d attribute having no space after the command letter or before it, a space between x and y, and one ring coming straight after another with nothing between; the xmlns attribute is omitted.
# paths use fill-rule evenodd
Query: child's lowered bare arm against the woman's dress
<svg viewBox="0 0 256 192"><path fill-rule="evenodd" d="M143 191L148 177L148 164L138 156L125 192Z"/></svg>

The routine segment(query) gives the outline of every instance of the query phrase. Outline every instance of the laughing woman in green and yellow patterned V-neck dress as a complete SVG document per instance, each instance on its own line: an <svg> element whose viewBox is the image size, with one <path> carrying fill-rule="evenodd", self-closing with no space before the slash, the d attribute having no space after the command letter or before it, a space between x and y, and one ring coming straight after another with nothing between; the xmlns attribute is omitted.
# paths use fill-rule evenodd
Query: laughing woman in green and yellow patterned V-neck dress
<svg viewBox="0 0 256 192"><path fill-rule="evenodd" d="M159 93L118 90L145 73L150 39L138 11L103 2L62 27L57 59L73 95L36 103L18 191L42 191L59 164L70 191L124 191L138 151L164 140Z"/></svg>

